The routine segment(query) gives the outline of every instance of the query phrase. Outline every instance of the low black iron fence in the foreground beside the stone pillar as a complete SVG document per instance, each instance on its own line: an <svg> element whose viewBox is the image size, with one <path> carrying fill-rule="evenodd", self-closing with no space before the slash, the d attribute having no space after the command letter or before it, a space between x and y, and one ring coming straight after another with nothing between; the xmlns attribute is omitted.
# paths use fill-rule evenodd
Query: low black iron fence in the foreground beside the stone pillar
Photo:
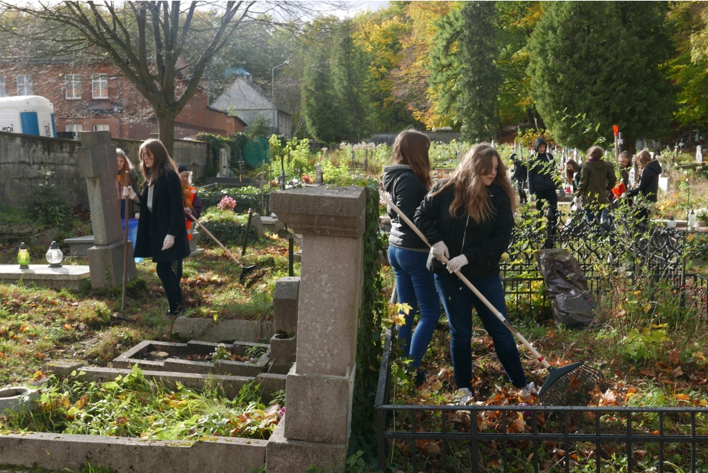
<svg viewBox="0 0 708 473"><path fill-rule="evenodd" d="M394 450L396 465L413 473L558 471L554 467L565 472L698 472L702 470L697 465L707 460L708 408L692 404L654 408L395 404L393 339L389 329L375 402L381 469Z"/></svg>

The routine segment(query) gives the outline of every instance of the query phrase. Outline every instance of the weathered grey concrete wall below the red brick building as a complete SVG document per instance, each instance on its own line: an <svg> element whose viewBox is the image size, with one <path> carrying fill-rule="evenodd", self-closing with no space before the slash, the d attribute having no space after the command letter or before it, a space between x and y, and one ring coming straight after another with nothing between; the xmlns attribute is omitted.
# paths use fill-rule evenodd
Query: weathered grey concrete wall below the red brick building
<svg viewBox="0 0 708 473"><path fill-rule="evenodd" d="M142 141L113 139L112 142L137 165L137 150ZM53 182L67 202L89 209L86 181L79 177L76 156L79 146L79 141L74 140L0 132L0 202L16 208L23 206L25 197L42 182L40 168L47 166L55 171ZM175 140L173 158L187 165L198 179L210 158L210 147L203 141Z"/></svg>

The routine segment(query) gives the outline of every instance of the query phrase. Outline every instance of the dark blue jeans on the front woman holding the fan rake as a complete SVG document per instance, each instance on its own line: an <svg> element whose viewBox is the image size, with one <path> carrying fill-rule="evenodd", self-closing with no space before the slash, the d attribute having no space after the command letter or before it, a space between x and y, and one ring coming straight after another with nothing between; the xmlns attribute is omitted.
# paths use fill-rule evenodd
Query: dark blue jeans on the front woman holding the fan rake
<svg viewBox="0 0 708 473"><path fill-rule="evenodd" d="M491 305L506 317L506 300L501 278L491 276L471 282ZM524 387L526 375L521 366L516 341L509 329L459 279L440 277L436 274L435 286L450 322L450 352L457 387L469 389L472 383L472 307L476 308L484 329L494 342L494 351L510 382L516 387Z"/></svg>

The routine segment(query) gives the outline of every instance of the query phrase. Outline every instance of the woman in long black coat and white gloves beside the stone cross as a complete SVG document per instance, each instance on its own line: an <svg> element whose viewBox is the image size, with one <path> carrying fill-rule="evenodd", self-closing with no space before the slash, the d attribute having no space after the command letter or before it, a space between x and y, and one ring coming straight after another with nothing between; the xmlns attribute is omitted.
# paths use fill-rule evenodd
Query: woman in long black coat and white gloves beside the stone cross
<svg viewBox="0 0 708 473"><path fill-rule="evenodd" d="M152 257L156 272L165 289L169 310L167 317L184 311L179 279L172 262L189 256L187 226L184 221L182 185L177 165L161 141L149 139L139 149L140 170L145 177L142 194L123 187L123 195L140 202L135 257Z"/></svg>

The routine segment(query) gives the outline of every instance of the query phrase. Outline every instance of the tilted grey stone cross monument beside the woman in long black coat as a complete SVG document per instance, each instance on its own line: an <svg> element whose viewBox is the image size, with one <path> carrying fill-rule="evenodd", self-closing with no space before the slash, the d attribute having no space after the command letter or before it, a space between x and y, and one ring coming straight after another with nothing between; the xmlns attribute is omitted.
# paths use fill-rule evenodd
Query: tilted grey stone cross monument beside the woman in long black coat
<svg viewBox="0 0 708 473"><path fill-rule="evenodd" d="M94 244L86 251L91 271L91 287L110 288L123 281L123 231L120 223L120 203L115 194L118 160L110 132L80 134L79 173L86 178L91 208ZM136 191L137 192L137 191ZM137 275L132 245L128 245L128 280Z"/></svg>

